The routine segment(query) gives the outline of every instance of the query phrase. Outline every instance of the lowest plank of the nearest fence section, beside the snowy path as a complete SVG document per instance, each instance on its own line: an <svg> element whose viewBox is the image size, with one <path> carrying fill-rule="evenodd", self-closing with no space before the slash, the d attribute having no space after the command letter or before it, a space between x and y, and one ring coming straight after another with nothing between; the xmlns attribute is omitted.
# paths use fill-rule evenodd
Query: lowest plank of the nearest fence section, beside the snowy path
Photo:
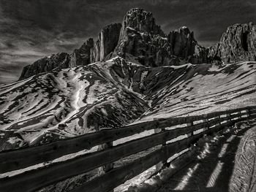
<svg viewBox="0 0 256 192"><path fill-rule="evenodd" d="M101 177L97 177L94 180L91 180L90 182L75 188L72 192L109 191L131 179L132 177L135 177L136 175L146 171L146 169L154 166L160 161L165 161L170 156L185 150L198 138L198 136L193 136L167 144L161 147L159 150L155 150L153 153L150 153L142 158L138 158L130 164L113 169L107 174L104 174Z"/></svg>

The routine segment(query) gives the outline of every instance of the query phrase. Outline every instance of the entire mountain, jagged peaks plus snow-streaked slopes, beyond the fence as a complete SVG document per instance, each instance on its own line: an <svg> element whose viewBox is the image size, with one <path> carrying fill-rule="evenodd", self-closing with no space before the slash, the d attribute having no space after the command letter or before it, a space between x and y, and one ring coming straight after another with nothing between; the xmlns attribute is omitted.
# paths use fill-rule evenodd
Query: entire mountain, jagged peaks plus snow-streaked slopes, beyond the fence
<svg viewBox="0 0 256 192"><path fill-rule="evenodd" d="M39 59L0 86L0 150L253 105L255 39L255 25L235 25L205 48L189 28L165 34L151 12L131 9L96 41Z"/></svg>

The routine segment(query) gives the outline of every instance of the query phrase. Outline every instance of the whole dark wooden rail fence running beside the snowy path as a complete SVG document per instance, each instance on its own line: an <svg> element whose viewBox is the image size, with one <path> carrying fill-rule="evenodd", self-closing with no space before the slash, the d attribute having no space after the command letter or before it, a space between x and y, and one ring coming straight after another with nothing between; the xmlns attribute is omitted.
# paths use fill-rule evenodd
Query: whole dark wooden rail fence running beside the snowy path
<svg viewBox="0 0 256 192"><path fill-rule="evenodd" d="M99 167L105 167L104 174L72 191L111 191L151 166L159 164L159 162L166 162L172 155L186 150L204 134L214 133L225 126L248 118L256 118L256 107L212 112L206 115L157 119L122 128L103 129L46 145L3 151L0 153L0 174L52 161L63 155L77 153L81 150L89 150L97 145L102 147L102 150L79 155L67 161L56 162L12 177L1 178L0 191L36 191ZM170 128L173 126L181 127ZM117 139L152 129L158 131L155 134L113 146L113 141ZM184 136L184 139L175 140L176 137L180 136ZM172 139L173 142L168 142ZM161 145L161 147L154 152L137 158L129 164L113 168L113 163L120 158L157 145Z"/></svg>

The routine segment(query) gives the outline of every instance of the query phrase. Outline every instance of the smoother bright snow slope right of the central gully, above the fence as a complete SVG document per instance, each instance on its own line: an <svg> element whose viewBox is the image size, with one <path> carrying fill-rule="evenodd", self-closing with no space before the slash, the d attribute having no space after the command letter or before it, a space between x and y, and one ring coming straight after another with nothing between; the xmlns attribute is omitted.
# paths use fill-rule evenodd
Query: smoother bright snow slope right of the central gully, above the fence
<svg viewBox="0 0 256 192"><path fill-rule="evenodd" d="M145 99L152 99L152 107L139 121L202 115L256 104L255 62L192 65L176 69L173 74L167 83L157 81L162 88L149 91Z"/></svg>

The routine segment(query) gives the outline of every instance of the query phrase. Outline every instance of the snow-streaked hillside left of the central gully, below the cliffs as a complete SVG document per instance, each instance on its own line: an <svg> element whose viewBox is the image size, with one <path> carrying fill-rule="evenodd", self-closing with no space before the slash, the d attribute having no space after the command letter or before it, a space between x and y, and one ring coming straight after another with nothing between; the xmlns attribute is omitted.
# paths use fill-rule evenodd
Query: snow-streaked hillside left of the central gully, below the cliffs
<svg viewBox="0 0 256 192"><path fill-rule="evenodd" d="M34 145L138 118L147 103L113 80L110 71L119 61L48 72L0 87L1 143Z"/></svg>

